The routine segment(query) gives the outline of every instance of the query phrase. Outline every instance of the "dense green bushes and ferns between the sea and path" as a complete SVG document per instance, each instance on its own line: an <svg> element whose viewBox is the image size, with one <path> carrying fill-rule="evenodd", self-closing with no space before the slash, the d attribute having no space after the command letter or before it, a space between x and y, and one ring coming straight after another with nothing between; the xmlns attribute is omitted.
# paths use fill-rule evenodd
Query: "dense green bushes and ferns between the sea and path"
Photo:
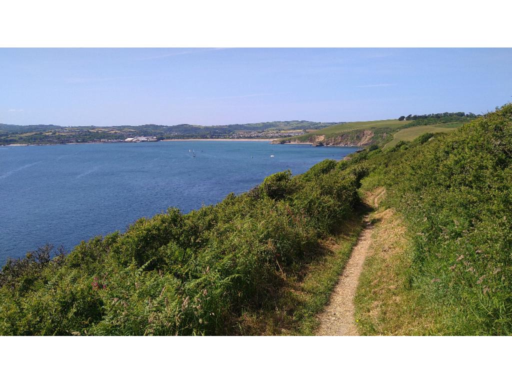
<svg viewBox="0 0 512 384"><path fill-rule="evenodd" d="M0 274L0 334L239 333L240 316L311 263L358 203L362 168L332 160L282 172L240 196L125 233L10 262Z"/></svg>

